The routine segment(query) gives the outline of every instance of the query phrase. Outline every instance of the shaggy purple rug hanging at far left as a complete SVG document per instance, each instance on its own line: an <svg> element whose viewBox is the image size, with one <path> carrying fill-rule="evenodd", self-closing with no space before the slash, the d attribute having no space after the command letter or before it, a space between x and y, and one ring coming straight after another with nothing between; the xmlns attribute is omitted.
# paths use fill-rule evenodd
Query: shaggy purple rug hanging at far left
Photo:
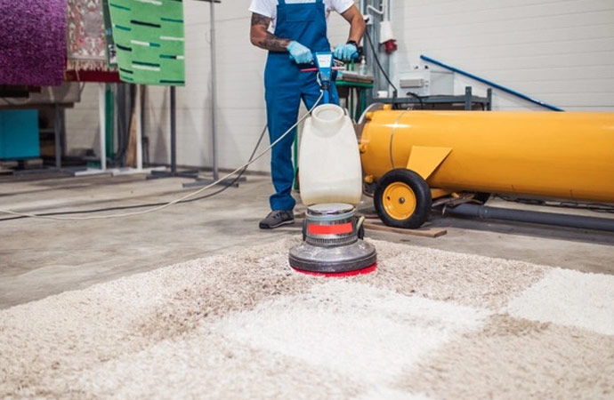
<svg viewBox="0 0 614 400"><path fill-rule="evenodd" d="M62 83L66 0L0 0L0 38L0 84Z"/></svg>

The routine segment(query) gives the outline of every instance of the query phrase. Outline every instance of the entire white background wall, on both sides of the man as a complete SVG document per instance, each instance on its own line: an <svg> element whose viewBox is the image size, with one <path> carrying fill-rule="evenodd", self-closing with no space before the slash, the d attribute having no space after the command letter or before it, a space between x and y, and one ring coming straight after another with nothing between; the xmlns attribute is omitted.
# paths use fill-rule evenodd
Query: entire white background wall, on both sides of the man
<svg viewBox="0 0 614 400"><path fill-rule="evenodd" d="M216 4L219 160L244 163L266 124L266 52L249 42L250 0ZM177 89L178 163L210 167L209 4L186 1L186 79ZM400 51L396 72L426 54L567 110L614 111L614 0L393 0ZM344 42L347 23L334 16L331 43ZM456 78L483 94L484 85ZM69 114L69 144L97 148L97 88ZM541 109L495 93L496 109ZM169 162L168 88L149 87L146 134L151 160ZM76 137L78 136L78 137ZM268 143L268 140L267 140ZM253 171L268 171L263 157Z"/></svg>

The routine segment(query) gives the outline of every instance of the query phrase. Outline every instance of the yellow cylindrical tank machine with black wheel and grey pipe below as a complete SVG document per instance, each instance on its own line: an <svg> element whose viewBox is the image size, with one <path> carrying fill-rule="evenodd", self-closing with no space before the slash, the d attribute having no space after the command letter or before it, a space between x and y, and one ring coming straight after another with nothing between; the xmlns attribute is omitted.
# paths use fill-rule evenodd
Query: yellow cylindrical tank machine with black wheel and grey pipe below
<svg viewBox="0 0 614 400"><path fill-rule="evenodd" d="M360 122L364 180L388 226L418 228L434 199L460 196L473 200L449 213L614 230L614 220L470 204L490 193L614 203L614 113L374 105Z"/></svg>

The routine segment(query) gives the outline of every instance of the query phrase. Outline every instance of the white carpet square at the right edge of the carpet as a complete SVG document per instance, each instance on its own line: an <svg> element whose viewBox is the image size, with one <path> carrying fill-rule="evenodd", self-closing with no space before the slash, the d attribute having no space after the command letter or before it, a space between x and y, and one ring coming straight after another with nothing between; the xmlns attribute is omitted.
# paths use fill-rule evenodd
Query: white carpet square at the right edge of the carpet
<svg viewBox="0 0 614 400"><path fill-rule="evenodd" d="M555 268L510 301L507 312L614 335L614 276Z"/></svg>

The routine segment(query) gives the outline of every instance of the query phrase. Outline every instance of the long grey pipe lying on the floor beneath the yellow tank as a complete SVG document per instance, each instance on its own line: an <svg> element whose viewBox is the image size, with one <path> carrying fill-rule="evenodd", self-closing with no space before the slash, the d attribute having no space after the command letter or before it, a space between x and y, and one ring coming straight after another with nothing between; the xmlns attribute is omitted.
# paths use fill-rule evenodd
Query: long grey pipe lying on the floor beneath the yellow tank
<svg viewBox="0 0 614 400"><path fill-rule="evenodd" d="M443 215L479 218L481 220L513 220L534 224L553 225L556 227L595 229L614 232L614 220L606 218L584 217L554 212L512 210L478 204L460 204L456 205L456 207L447 207L444 209Z"/></svg>

